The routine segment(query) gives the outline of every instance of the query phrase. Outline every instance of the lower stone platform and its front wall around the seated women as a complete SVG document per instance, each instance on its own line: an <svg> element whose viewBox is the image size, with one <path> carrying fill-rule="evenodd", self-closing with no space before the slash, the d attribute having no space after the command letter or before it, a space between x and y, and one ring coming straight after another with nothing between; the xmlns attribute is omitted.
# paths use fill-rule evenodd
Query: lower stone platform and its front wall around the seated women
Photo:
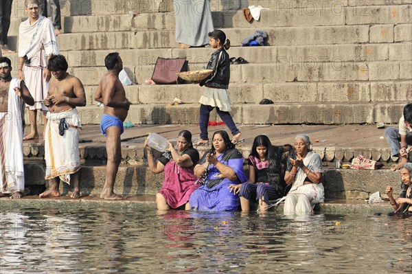
<svg viewBox="0 0 412 274"><path fill-rule="evenodd" d="M136 195L155 194L163 181L163 174L152 174L147 167L147 158L143 148L144 139L150 132L160 133L172 140L179 131L187 129L194 136L199 133L197 126L148 126L141 125L126 128L122 135L122 165L116 180L116 192ZM215 130L225 130L225 126L211 127ZM386 141L380 138L383 130L376 126L240 126L244 143L237 146L247 159L251 151L255 135L266 133L273 144L290 144L297 133L308 133L313 142L313 150L323 159L325 171L325 195L327 198L367 198L376 191L385 192L387 185L392 185L395 191L399 189L399 174L391 172L388 166L393 163ZM102 191L106 177L106 148L104 137L98 126L85 126L80 133L80 157L82 170L80 173L81 190L84 195L98 196ZM194 137L195 138L195 137ZM198 146L200 155L209 148ZM32 189L44 187L45 163L44 146L40 143L25 143L26 185ZM356 155L385 163L382 170L336 170L334 161L341 160L350 163ZM159 157L159 153L155 153ZM244 164L247 172L247 163ZM62 185L62 192L69 191L67 185Z"/></svg>

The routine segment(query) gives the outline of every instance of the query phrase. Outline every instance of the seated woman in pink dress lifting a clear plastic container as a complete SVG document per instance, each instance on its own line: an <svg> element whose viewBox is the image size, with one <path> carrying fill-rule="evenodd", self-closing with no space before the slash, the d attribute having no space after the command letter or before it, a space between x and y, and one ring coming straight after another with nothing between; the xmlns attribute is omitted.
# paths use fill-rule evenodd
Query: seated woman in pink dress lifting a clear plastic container
<svg viewBox="0 0 412 274"><path fill-rule="evenodd" d="M144 147L148 152L149 168L153 173L165 172L163 187L156 194L157 209L176 209L185 205L185 209L190 209L190 194L196 188L197 178L194 176L194 165L199 160L199 153L192 145L192 133L182 130L177 139L176 148L169 142L170 152L166 152L155 161L152 148L148 146L148 140L144 142Z"/></svg>

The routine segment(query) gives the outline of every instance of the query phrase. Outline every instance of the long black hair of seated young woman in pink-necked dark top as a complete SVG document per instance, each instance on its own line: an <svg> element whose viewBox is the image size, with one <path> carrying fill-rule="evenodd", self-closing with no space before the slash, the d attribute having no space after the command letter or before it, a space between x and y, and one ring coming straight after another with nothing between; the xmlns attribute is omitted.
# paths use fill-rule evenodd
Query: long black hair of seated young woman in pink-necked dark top
<svg viewBox="0 0 412 274"><path fill-rule="evenodd" d="M258 146L264 146L267 148L265 160L268 161L268 183L272 183L273 185L277 185L281 183L283 180L282 175L282 153L284 152L283 146L273 146L271 140L266 135L258 135L253 140L253 146L251 155L259 159L258 151L256 148Z"/></svg>

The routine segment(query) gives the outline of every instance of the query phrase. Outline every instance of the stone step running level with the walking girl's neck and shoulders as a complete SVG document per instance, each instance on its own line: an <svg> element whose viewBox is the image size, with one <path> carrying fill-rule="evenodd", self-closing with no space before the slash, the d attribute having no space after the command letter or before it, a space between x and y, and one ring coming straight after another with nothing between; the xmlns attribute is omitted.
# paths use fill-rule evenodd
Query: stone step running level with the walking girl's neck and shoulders
<svg viewBox="0 0 412 274"><path fill-rule="evenodd" d="M115 50L115 49L113 49ZM190 64L190 69L202 69L214 52L213 49L116 49L124 60L124 65L143 67L155 65L157 57L183 58ZM336 67L341 62L372 62L385 60L412 60L412 43L368 43L362 45L289 45L289 46L265 46L265 47L231 47L228 49L231 57L242 57L250 63L273 63L290 66L305 64L306 67L333 62ZM104 67L104 58L108 54L107 49L89 51L62 51L69 67ZM19 58L17 54L8 54L12 60L12 67L16 68ZM236 66L235 66L236 67Z"/></svg>

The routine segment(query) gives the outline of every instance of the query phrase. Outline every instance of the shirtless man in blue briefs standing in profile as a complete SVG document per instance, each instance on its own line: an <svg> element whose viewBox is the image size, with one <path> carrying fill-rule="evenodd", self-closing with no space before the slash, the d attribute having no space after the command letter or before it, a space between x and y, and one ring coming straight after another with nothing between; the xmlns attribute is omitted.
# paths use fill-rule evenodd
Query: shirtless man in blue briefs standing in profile
<svg viewBox="0 0 412 274"><path fill-rule="evenodd" d="M100 80L99 87L94 95L94 100L104 104L100 129L103 135L106 136L107 151L106 181L100 198L122 200L126 197L115 194L113 187L122 159L120 135L124 131L123 122L130 108L130 102L127 100L123 84L119 80L119 73L123 69L122 58L117 52L113 52L106 56L104 65L106 65L108 71Z"/></svg>

